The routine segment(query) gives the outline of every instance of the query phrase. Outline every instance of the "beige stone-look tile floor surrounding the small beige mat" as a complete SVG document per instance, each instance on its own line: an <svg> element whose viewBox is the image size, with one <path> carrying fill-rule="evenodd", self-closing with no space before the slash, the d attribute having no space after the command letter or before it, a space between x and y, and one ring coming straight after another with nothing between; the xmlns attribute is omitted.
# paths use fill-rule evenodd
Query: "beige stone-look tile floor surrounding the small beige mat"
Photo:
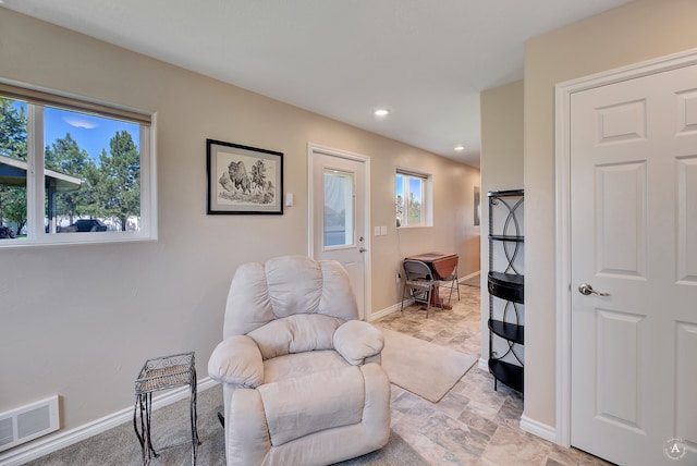
<svg viewBox="0 0 697 466"><path fill-rule="evenodd" d="M442 346L480 355L480 289L461 285L452 310L417 306L372 323ZM447 293L447 292L445 292ZM429 464L473 466L608 465L595 456L524 432L518 427L523 396L475 365L439 402L430 403L392 385L392 428Z"/></svg>

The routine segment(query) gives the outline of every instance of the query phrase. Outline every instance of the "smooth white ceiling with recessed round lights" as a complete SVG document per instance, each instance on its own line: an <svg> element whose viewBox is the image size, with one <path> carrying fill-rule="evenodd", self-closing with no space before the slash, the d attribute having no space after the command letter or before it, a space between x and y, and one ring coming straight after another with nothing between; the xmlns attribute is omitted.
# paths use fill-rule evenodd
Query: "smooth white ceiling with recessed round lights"
<svg viewBox="0 0 697 466"><path fill-rule="evenodd" d="M479 93L523 77L524 42L628 1L0 4L478 167ZM389 108L390 115L376 118L372 110L378 107ZM466 150L456 152L456 145Z"/></svg>

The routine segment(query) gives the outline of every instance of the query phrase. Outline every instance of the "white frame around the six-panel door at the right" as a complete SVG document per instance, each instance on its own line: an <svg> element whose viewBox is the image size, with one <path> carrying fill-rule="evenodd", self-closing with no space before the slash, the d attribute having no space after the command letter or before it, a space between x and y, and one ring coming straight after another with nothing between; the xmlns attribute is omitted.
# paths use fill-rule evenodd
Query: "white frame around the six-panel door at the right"
<svg viewBox="0 0 697 466"><path fill-rule="evenodd" d="M571 445L571 96L572 94L697 64L697 49L560 83L554 89L557 165L557 438Z"/></svg>

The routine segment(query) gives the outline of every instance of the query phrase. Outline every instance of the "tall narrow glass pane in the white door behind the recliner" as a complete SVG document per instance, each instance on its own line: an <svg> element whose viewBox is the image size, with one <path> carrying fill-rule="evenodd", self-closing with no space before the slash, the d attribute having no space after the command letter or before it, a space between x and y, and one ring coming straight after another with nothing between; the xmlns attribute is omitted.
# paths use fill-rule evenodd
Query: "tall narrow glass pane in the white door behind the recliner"
<svg viewBox="0 0 697 466"><path fill-rule="evenodd" d="M354 245L354 174L325 169L325 247Z"/></svg>

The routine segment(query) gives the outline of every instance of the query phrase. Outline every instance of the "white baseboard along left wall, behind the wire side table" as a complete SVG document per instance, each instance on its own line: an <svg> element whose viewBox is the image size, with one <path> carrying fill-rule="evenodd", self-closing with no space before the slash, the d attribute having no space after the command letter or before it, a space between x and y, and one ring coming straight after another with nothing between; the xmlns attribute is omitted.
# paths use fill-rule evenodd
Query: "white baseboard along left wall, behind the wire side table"
<svg viewBox="0 0 697 466"><path fill-rule="evenodd" d="M210 377L206 377L196 383L196 390L203 392L218 384ZM170 405L180 400L188 397L188 387L182 387L161 395L152 396L152 410ZM66 431L58 431L54 434L37 439L24 446L15 446L14 449L0 454L0 465L19 466L32 459L39 458L51 452L64 449L74 443L81 442L90 437L97 436L103 431L120 426L126 421L133 421L133 406L123 408L117 413L107 415L100 419L87 422L83 426ZM135 431L133 433L135 438Z"/></svg>

